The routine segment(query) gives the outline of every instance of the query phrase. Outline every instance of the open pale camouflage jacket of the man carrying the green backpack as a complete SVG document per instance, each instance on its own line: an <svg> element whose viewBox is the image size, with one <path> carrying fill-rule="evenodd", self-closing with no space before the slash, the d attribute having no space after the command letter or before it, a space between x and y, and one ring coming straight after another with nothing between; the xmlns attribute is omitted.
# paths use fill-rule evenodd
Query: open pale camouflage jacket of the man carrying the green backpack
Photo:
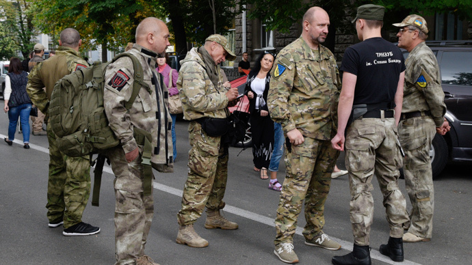
<svg viewBox="0 0 472 265"><path fill-rule="evenodd" d="M105 72L103 93L103 105L109 126L120 139L125 153L137 148L133 128L149 132L153 145L151 162L165 166L165 169L158 169L159 171L170 171L170 167L166 165L172 163L172 120L168 111L168 89L162 83L161 74L156 72L157 54L138 44L134 44L127 53L131 53L140 61L144 82L149 85L151 91L142 87L131 109L127 111L124 104L133 92L133 61L129 57L121 57L109 64Z"/></svg>

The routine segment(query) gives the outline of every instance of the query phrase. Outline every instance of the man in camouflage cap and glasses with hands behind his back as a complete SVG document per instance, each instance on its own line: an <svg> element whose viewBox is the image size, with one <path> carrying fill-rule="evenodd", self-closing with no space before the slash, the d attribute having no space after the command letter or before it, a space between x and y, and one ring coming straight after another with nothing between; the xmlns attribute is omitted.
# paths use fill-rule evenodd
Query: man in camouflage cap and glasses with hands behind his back
<svg viewBox="0 0 472 265"><path fill-rule="evenodd" d="M411 221L403 240L429 241L434 211L430 145L436 132L445 135L451 127L444 117L446 105L438 62L425 44L428 38L425 19L412 14L393 25L400 28L398 46L410 53L405 61L403 109L398 127L406 154L405 186L412 204Z"/></svg>

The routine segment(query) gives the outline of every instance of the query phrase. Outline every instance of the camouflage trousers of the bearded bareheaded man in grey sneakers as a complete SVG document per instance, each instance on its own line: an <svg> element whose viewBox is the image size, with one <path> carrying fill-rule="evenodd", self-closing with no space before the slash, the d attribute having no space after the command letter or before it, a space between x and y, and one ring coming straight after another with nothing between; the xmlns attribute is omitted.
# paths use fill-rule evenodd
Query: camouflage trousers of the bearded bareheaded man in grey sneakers
<svg viewBox="0 0 472 265"><path fill-rule="evenodd" d="M324 226L324 203L331 184L339 152L330 141L305 137L304 143L285 149L287 176L280 192L275 219L275 245L292 243L298 214L305 206L306 225L303 236L312 240Z"/></svg>

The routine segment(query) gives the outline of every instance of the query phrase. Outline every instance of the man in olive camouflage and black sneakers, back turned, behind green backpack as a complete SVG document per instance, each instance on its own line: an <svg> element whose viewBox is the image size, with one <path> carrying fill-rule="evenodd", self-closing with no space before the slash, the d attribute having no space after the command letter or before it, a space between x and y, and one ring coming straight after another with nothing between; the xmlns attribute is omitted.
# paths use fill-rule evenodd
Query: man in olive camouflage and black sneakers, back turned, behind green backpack
<svg viewBox="0 0 472 265"><path fill-rule="evenodd" d="M28 76L27 92L33 104L42 113L47 113L49 100L57 80L86 68L87 62L79 53L82 44L79 32L64 29L60 34L57 54L51 59L38 63ZM87 157L70 157L62 154L56 145L56 136L51 126L47 126L49 141L49 180L47 191L47 217L49 227L64 223L64 236L87 236L100 232L82 222L90 195L90 161Z"/></svg>

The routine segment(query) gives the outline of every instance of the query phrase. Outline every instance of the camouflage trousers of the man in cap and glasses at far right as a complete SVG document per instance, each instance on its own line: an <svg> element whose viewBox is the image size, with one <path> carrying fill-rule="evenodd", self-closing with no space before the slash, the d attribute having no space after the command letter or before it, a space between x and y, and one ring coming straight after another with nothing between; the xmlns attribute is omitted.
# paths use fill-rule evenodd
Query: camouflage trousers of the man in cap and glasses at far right
<svg viewBox="0 0 472 265"><path fill-rule="evenodd" d="M400 143L405 150L405 186L412 204L408 232L421 238L432 238L434 188L430 145L436 135L432 117L413 117L399 123Z"/></svg>

